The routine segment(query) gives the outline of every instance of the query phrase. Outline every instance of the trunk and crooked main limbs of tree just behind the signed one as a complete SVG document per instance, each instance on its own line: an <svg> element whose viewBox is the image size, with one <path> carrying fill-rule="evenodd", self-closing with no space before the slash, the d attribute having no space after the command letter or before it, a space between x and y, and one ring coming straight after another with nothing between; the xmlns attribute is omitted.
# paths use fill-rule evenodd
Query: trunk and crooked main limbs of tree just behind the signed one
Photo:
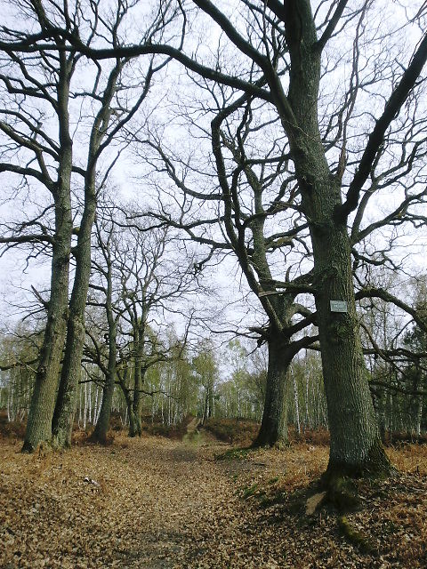
<svg viewBox="0 0 427 569"><path fill-rule="evenodd" d="M305 341L291 341L294 333L292 317L299 313L302 307L294 302L297 296L294 289L284 291L277 288L270 268L271 252L278 250L281 246L292 248L294 237L298 235L298 229L293 226L285 233L279 235L273 233L271 235L269 225L267 224L266 227L266 221L271 214L271 204L265 201L266 187L269 186L269 183L262 180L262 174L260 175L256 167L250 165L249 161L246 160L240 134L237 134L234 141L228 139L226 143L223 142L222 129L227 130L227 132L230 129L228 130L222 124L227 121L239 105L246 104L246 97L243 96L230 107L223 108L215 116L211 123L212 148L218 180L222 189L225 230L238 258L239 265L246 276L247 283L258 297L269 321L267 327L253 329L261 334L260 341L265 341L269 349L262 425L254 445L271 446L287 441L286 375L294 355L299 349L309 346L312 339L305 336ZM248 115L250 116L250 113ZM250 131L249 124L246 125L246 128ZM225 175L227 162L224 157L224 146L231 151L236 163L236 168L230 175L230 178L234 180L231 184ZM233 186L236 185L235 180L238 180L238 175L241 172L245 174L242 183L252 191L251 205L254 212L251 216L246 215L247 204L244 203L244 198L240 196L237 188ZM280 191L278 193L283 197ZM245 192L242 192L242 196L245 196ZM272 262L274 266L274 256ZM301 285L309 284L310 279L310 273L300 275L294 279L292 284L297 282ZM307 313L308 311L302 316L307 317ZM301 325L298 332L301 333L308 325L310 325L310 320L306 320L306 324Z"/></svg>

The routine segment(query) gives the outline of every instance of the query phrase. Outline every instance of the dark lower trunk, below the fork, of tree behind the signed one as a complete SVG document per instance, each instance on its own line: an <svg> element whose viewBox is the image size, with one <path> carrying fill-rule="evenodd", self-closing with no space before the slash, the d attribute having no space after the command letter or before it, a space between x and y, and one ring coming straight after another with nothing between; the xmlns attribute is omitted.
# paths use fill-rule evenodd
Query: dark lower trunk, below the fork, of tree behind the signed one
<svg viewBox="0 0 427 569"><path fill-rule="evenodd" d="M260 432L253 446L287 443L286 375L294 353L277 336L269 339L269 367Z"/></svg>

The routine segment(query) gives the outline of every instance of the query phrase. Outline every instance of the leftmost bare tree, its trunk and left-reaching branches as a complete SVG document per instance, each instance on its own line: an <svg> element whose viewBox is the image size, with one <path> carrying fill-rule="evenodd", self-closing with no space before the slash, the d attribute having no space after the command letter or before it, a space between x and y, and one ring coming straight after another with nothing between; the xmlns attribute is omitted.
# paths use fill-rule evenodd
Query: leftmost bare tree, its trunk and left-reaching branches
<svg viewBox="0 0 427 569"><path fill-rule="evenodd" d="M42 185L52 196L52 204L42 207L31 219L9 226L2 242L52 246L51 291L44 301L47 319L44 342L36 373L36 385L28 416L23 450L32 451L41 441L50 440L53 406L58 387L60 357L65 340L68 307L68 268L73 229L71 176L73 143L68 113L70 84L81 59L75 52L59 51L63 40L55 37L52 50L27 56L13 48L13 40L28 36L29 29L44 12L30 3L16 3L20 29L3 28L2 121L4 134L1 172L12 172L16 187L26 190ZM28 22L28 31L22 22ZM68 20L70 28L76 21ZM55 136L55 128L58 136ZM47 214L53 213L50 229ZM43 299L42 299L43 301Z"/></svg>

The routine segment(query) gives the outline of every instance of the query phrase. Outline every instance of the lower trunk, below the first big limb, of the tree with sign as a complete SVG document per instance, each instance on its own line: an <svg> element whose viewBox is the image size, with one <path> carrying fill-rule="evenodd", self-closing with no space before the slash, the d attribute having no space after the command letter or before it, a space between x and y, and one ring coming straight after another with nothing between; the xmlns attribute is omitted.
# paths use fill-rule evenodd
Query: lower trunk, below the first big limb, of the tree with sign
<svg viewBox="0 0 427 569"><path fill-rule="evenodd" d="M329 190L329 195L330 195ZM354 300L350 240L344 226L312 231L318 331L331 449L328 472L357 475L390 469L376 424ZM330 301L346 301L346 312Z"/></svg>

